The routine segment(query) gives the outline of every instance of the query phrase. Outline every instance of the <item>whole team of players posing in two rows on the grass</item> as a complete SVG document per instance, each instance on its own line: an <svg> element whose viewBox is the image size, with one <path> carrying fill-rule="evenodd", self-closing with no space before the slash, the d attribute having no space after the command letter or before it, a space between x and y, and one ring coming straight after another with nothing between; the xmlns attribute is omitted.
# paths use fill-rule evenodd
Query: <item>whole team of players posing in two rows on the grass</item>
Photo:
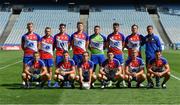
<svg viewBox="0 0 180 105"><path fill-rule="evenodd" d="M162 57L161 43L153 33L153 26L147 26L147 35L144 37L138 33L138 25L134 24L131 27L132 34L126 38L119 32L119 23L112 26L113 32L107 38L100 33L98 25L94 26L94 34L87 35L83 32L82 22L77 23L77 32L71 36L65 32L66 25L60 24L60 32L54 37L51 35L51 28L46 27L45 35L40 38L33 31L33 23L27 23L28 32L22 36L21 41L24 51L24 87L29 88L34 81L40 83L41 87L47 82L48 87L75 88L76 81L80 88L89 89L94 87L96 80L101 83L101 88L110 87L112 82L116 82L116 87L120 87L121 82L123 86L126 87L127 83L127 87L131 87L131 81L134 80L139 88L147 79L147 88L153 88L151 78L155 77L156 86L166 88L170 67ZM144 44L146 62L141 57L141 47ZM128 50L127 58L123 54L125 48ZM71 50L72 57L69 53ZM98 72L97 65L100 66ZM162 83L160 78L164 78ZM52 80L56 81L53 86Z"/></svg>

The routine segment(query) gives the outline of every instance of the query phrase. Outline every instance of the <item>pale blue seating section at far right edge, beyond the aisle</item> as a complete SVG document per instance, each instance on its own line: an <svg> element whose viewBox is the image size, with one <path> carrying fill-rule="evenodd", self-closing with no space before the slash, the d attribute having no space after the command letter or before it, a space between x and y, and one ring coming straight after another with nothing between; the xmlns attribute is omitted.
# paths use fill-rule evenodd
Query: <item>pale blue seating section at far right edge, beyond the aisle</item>
<svg viewBox="0 0 180 105"><path fill-rule="evenodd" d="M158 15L171 42L180 43L180 5L163 5Z"/></svg>

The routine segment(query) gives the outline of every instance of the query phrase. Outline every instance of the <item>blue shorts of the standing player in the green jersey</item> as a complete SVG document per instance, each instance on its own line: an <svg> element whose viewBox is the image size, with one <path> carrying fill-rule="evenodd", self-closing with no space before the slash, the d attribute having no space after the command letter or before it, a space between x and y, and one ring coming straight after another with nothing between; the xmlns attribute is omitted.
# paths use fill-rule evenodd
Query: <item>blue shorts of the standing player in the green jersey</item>
<svg viewBox="0 0 180 105"><path fill-rule="evenodd" d="M104 56L104 54L92 54L91 55L91 61L94 64L101 65L105 61L105 56Z"/></svg>

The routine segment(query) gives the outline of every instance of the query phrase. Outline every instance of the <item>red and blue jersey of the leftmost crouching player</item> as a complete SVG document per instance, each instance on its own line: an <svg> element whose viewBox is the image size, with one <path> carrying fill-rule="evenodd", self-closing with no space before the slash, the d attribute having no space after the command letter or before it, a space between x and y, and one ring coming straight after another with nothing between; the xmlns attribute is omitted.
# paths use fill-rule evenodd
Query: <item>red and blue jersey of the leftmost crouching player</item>
<svg viewBox="0 0 180 105"><path fill-rule="evenodd" d="M42 67L45 67L44 62L41 59L39 59L37 62L32 59L28 63L26 63L26 65L33 70L40 70Z"/></svg>

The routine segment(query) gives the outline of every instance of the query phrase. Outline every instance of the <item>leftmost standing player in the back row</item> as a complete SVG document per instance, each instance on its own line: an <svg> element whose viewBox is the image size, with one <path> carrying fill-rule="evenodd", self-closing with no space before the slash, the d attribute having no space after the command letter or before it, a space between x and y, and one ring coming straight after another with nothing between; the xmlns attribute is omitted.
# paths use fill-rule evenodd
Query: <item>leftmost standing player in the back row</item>
<svg viewBox="0 0 180 105"><path fill-rule="evenodd" d="M33 32L33 23L27 23L28 32L21 38L21 48L24 51L23 58L23 72L25 70L25 64L33 59L34 52L38 51L40 35ZM25 84L23 82L23 84Z"/></svg>

